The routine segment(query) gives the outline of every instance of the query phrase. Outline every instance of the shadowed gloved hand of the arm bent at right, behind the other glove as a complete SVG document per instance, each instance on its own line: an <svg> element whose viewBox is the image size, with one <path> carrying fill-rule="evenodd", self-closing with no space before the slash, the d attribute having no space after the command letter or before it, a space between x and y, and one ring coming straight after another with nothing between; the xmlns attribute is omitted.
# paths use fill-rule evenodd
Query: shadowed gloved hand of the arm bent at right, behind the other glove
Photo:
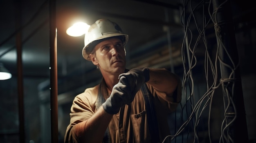
<svg viewBox="0 0 256 143"><path fill-rule="evenodd" d="M132 96L135 96L141 86L149 80L148 68L133 68L127 73L122 73L119 78L126 77Z"/></svg>

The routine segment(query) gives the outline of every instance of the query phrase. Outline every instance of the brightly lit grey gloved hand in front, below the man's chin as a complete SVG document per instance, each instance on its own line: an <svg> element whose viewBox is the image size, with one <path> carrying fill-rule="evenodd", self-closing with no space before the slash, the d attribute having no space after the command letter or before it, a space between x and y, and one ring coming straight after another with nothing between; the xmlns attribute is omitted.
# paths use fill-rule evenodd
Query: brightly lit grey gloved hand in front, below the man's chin
<svg viewBox="0 0 256 143"><path fill-rule="evenodd" d="M130 85L126 77L120 77L119 82L113 87L110 97L102 106L109 114L117 114L122 106L129 104L133 99L134 96L131 96Z"/></svg>

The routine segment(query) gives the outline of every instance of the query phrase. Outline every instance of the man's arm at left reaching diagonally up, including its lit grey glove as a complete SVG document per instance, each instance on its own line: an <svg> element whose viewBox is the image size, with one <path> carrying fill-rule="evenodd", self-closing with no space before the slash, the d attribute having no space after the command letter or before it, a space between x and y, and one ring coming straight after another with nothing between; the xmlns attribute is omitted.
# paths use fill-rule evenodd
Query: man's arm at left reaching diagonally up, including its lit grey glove
<svg viewBox="0 0 256 143"><path fill-rule="evenodd" d="M126 78L120 78L110 97L89 119L77 123L66 133L65 143L101 143L113 114L117 114L122 106L134 99Z"/></svg>

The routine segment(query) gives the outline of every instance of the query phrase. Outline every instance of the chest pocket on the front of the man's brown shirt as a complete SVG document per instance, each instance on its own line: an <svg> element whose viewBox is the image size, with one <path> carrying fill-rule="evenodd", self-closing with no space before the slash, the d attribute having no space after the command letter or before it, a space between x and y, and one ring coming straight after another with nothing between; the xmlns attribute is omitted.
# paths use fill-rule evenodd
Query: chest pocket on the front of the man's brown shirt
<svg viewBox="0 0 256 143"><path fill-rule="evenodd" d="M150 133L147 125L146 110L139 114L130 115L132 121L133 136L136 143L150 143Z"/></svg>

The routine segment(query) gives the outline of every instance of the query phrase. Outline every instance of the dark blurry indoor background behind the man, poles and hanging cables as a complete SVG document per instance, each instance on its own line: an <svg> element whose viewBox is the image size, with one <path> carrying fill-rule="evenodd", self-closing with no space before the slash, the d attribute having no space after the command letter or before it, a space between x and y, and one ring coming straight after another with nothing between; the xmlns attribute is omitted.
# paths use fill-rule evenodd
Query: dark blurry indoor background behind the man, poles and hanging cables
<svg viewBox="0 0 256 143"><path fill-rule="evenodd" d="M20 2L20 3L19 3ZM205 7L202 7L205 5ZM209 1L193 0L57 0L57 68L58 68L58 134L59 142L63 142L65 129L69 124L69 112L75 95L85 88L94 86L101 80L99 70L83 59L82 48L84 35L70 37L66 29L80 20L93 24L100 18L108 18L121 26L129 35L126 45L127 68L147 66L151 68L166 68L187 81L189 57L186 56L184 35L191 39L189 44L195 51L196 61L191 70L191 79L184 83L183 102L187 105L186 114L178 108L176 115L170 115L171 130L179 128L188 119L192 106L198 103L207 92L207 82L213 80L212 75L205 75L205 51L209 51L212 59L216 57L217 40L214 24L209 20ZM256 72L256 18L255 7L249 0L232 0L229 15L234 21L236 39L235 46L229 47L238 53L239 71L243 90L247 129L250 143L256 143L256 113L255 94ZM210 6L212 7L212 6ZM21 11L18 11L18 8ZM193 16L191 16L193 9ZM212 9L210 10L212 14ZM186 13L184 16L184 12ZM20 17L18 16L20 15ZM191 17L190 17L191 16ZM17 68L16 25L21 18L22 36L22 71ZM210 22L204 27L206 18ZM207 23L207 22L205 22ZM191 33L186 31L188 26ZM231 25L232 26L232 25ZM198 28L199 27L199 28ZM204 28L203 28L204 27ZM199 37L198 29L204 29L207 45ZM225 31L225 29L223 29ZM190 35L191 34L191 35ZM50 121L50 51L49 51L49 1L46 0L0 0L0 62L12 74L12 78L0 81L0 143L19 142L19 114L17 74L22 72L24 95L25 142L49 143L51 141ZM185 59L184 59L185 57ZM186 61L186 62L185 62ZM213 60L214 61L214 60ZM214 63L214 62L213 62ZM218 74L219 84L220 69ZM185 73L185 74L184 74ZM209 70L210 73L210 70ZM186 78L184 78L184 75ZM193 81L193 82L192 82ZM193 83L193 84L192 84ZM193 85L193 86L191 86ZM192 87L192 88L191 88ZM193 90L192 90L193 89ZM186 92L185 92L186 91ZM187 97L193 93L193 102ZM191 97L192 98L192 97ZM222 89L218 88L212 100L211 141L220 139L220 127L223 121ZM191 106L192 105L192 106ZM185 110L184 110L185 111ZM202 110L198 125L199 142L208 140L208 110ZM199 118L195 118L199 119ZM193 141L194 124L186 127L183 141ZM191 130L190 130L191 129ZM244 132L241 130L241 132ZM174 133L173 133L174 134ZM184 133L185 134L185 133ZM181 136L176 141L182 139ZM180 141L181 142L181 141Z"/></svg>

